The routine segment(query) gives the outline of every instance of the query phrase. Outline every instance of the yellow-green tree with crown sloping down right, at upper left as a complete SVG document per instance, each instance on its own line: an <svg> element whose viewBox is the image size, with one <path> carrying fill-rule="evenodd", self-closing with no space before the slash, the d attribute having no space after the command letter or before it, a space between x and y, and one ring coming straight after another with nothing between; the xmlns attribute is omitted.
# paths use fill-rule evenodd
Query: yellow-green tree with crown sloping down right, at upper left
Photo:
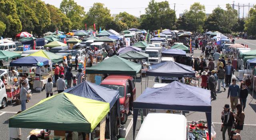
<svg viewBox="0 0 256 140"><path fill-rule="evenodd" d="M72 23L67 16L60 11L59 8L56 8L53 5L46 4L49 12L51 23L47 27L47 31L55 31L56 29L60 31L69 32L72 26Z"/></svg>

